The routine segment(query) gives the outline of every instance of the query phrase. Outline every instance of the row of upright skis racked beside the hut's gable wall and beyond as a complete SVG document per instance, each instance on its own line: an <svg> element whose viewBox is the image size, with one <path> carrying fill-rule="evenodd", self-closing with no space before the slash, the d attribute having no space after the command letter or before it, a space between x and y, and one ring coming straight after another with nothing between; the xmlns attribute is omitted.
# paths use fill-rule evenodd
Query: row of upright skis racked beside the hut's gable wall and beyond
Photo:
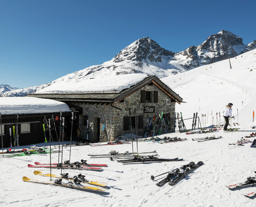
<svg viewBox="0 0 256 207"><path fill-rule="evenodd" d="M171 133L171 132L184 132L184 131L190 131L193 129L199 129L199 125L201 128L201 122L200 118L197 116L198 113L194 113L193 118L183 119L182 112L176 113L175 112L175 118L171 119L168 117L163 117L163 112L161 114L155 113L154 117L149 117L146 122L145 130L143 133L143 137L151 137L151 136L158 136L165 133ZM192 121L192 128L186 129L185 120ZM174 127L172 127L171 123L174 122Z"/></svg>

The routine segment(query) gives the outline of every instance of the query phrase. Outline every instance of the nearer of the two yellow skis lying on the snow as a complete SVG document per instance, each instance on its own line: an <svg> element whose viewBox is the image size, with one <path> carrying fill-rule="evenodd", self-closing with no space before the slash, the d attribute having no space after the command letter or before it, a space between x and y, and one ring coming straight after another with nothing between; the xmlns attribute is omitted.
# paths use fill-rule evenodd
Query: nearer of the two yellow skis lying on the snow
<svg viewBox="0 0 256 207"><path fill-rule="evenodd" d="M95 190L95 191L105 191L107 189L105 188L95 188L95 187L89 187L89 186L83 186L81 184L75 184L75 183L55 183L54 181L39 181L39 180L34 180L34 179L29 179L28 177L24 176L22 180L26 182L35 182L35 183L41 183L41 184L48 184L48 185L53 185L53 186L63 186L63 187L69 187L69 188L77 188L77 189L87 189L87 190Z"/></svg>

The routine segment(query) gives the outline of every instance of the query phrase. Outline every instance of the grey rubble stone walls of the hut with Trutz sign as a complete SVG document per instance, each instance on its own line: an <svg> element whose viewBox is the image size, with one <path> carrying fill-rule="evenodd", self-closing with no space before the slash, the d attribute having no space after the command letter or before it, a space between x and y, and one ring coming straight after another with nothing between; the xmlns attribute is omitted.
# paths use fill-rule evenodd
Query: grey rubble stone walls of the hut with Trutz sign
<svg viewBox="0 0 256 207"><path fill-rule="evenodd" d="M151 91L151 102L141 103L141 90ZM158 91L158 103L154 103L154 91ZM106 119L108 121L108 133L110 132L110 117L111 119L111 132L112 137L111 140L115 140L118 136L125 134L125 133L131 133L131 130L124 130L124 117L129 116L129 108L131 109L132 115L136 108L136 123L137 123L137 133L138 135L143 135L144 129L145 129L145 123L148 120L149 117L154 117L155 113L161 114L163 112L164 114L170 113L171 119L174 119L175 117L175 102L171 102L169 105L167 105L166 100L171 100L171 97L169 97L167 94L165 94L162 90L160 90L155 85L147 85L140 90L136 91L135 93L131 94L130 96L126 97L124 99L124 102L118 102L116 104L113 104L113 106L118 107L121 110L118 110L114 107L111 107L109 105L101 105L101 104L77 104L73 103L79 107L83 108L83 114L79 116L79 129L81 130L81 137L86 137L86 123L84 123L84 116L88 116L89 120L89 134L88 138L92 141L98 141L98 119L100 118L100 130L102 129L103 124L106 123ZM143 113L144 107L147 106L155 106L155 113ZM138 116L143 115L143 128L138 129ZM175 120L171 123L171 130L174 130L174 123ZM135 133L135 128L133 129L133 132ZM105 136L105 140L106 136ZM110 141L110 133L109 133L109 141Z"/></svg>

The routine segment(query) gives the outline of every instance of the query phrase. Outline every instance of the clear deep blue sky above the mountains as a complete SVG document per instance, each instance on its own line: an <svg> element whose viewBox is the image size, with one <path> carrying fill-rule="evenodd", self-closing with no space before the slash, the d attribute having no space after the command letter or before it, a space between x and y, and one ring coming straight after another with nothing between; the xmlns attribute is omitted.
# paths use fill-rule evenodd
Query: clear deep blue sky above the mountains
<svg viewBox="0 0 256 207"><path fill-rule="evenodd" d="M173 52L228 30L256 39L255 1L1 0L0 84L32 87L111 60L143 37Z"/></svg>

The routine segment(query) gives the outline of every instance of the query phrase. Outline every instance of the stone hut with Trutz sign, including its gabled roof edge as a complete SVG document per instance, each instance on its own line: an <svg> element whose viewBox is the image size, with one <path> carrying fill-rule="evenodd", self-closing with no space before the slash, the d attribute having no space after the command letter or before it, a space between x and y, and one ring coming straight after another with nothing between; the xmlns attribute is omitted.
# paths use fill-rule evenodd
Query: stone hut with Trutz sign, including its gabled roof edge
<svg viewBox="0 0 256 207"><path fill-rule="evenodd" d="M108 129L108 139L105 136L103 141L115 140L122 134L130 133L130 126L135 130L135 123L138 135L143 135L148 118L161 112L164 113L164 117L173 119L171 129L174 131L175 103L182 102L182 98L156 76L149 76L122 91L47 93L28 96L58 100L65 102L69 107L79 108L80 137L85 138L88 131L88 139L94 142L99 141L103 124ZM136 113L134 113L135 109ZM131 110L131 123L129 110Z"/></svg>

